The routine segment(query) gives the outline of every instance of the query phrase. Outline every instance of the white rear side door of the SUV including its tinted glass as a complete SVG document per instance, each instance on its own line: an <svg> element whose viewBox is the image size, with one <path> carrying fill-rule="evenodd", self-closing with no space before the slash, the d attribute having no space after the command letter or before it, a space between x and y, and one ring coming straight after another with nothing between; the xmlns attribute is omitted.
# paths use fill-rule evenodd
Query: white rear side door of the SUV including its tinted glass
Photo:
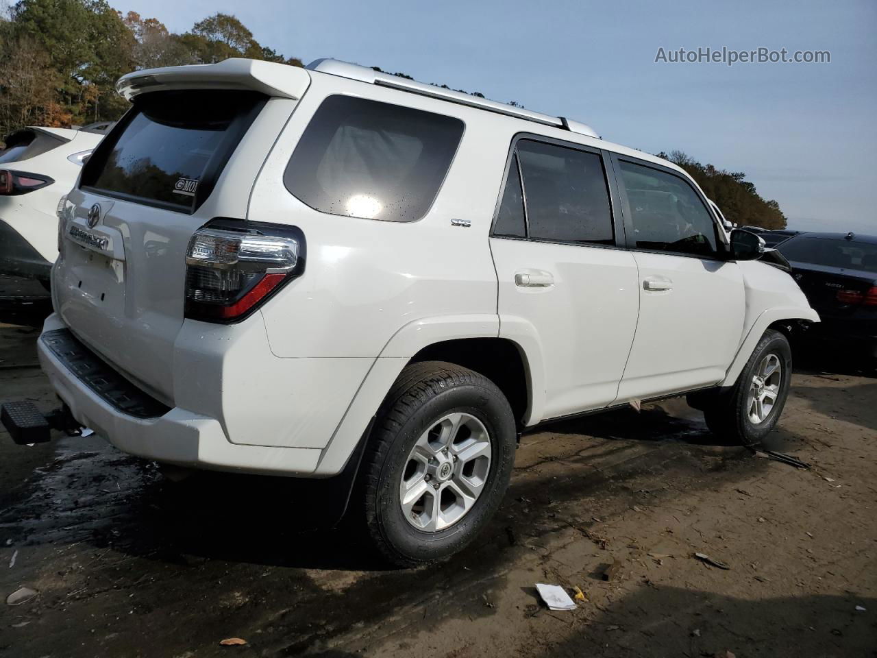
<svg viewBox="0 0 877 658"><path fill-rule="evenodd" d="M601 408L617 395L637 323L638 278L610 203L605 154L535 136L517 139L490 248L500 336L531 332L541 363L536 418Z"/></svg>

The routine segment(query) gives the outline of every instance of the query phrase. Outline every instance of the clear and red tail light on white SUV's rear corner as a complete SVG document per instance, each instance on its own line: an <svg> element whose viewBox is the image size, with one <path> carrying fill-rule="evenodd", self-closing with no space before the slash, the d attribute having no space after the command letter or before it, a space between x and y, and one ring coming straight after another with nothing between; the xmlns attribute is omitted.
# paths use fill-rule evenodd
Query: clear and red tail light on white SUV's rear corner
<svg viewBox="0 0 877 658"><path fill-rule="evenodd" d="M185 315L237 322L303 271L304 235L296 227L211 222L189 240Z"/></svg>

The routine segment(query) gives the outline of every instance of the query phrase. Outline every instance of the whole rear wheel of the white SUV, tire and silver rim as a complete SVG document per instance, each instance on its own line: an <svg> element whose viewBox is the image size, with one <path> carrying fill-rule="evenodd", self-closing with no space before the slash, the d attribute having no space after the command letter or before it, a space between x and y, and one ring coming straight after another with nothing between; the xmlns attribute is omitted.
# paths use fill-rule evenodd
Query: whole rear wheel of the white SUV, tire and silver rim
<svg viewBox="0 0 877 658"><path fill-rule="evenodd" d="M496 384L440 361L405 368L360 470L368 533L400 566L446 558L493 516L511 476L515 419Z"/></svg>

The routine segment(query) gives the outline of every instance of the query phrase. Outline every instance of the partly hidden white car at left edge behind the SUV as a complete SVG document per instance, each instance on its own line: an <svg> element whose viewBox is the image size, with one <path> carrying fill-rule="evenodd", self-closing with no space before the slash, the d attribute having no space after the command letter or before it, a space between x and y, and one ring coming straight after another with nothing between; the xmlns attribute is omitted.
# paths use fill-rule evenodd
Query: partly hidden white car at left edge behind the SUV
<svg viewBox="0 0 877 658"><path fill-rule="evenodd" d="M108 127L31 126L6 137L0 150L0 274L48 285L58 255L58 202Z"/></svg>

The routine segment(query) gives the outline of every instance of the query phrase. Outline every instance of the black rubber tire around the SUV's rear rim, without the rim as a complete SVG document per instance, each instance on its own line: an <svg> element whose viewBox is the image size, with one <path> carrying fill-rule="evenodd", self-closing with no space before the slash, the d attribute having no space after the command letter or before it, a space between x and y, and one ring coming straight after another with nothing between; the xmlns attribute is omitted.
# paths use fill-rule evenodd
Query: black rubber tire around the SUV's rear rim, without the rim
<svg viewBox="0 0 877 658"><path fill-rule="evenodd" d="M481 494L452 526L427 533L403 516L400 483L417 440L453 412L474 416L488 431L491 457ZM358 477L367 532L396 566L439 561L465 547L503 500L515 460L517 429L508 400L487 377L443 361L403 369L378 411Z"/></svg>

